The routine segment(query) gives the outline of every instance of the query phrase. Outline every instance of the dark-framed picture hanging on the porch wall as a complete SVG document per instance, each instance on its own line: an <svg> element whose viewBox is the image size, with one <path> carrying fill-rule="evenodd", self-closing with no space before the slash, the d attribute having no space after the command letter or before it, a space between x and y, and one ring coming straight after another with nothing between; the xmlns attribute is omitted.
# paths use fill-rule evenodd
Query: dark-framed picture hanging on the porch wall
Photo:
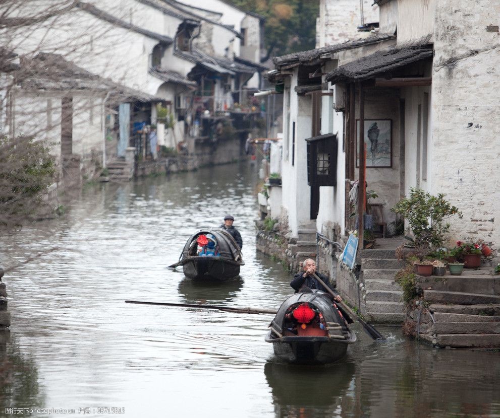
<svg viewBox="0 0 500 418"><path fill-rule="evenodd" d="M356 119L356 167L359 167L359 119ZM366 167L393 166L392 119L365 119Z"/></svg>

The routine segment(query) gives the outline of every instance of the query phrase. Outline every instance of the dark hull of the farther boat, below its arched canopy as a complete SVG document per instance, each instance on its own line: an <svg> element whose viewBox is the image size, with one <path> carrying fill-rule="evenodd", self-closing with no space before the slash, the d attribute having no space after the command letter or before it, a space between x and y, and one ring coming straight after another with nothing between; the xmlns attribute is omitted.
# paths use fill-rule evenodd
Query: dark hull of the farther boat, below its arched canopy
<svg viewBox="0 0 500 418"><path fill-rule="evenodd" d="M240 275L240 266L221 257L189 257L183 264L186 277L200 282L226 282Z"/></svg>

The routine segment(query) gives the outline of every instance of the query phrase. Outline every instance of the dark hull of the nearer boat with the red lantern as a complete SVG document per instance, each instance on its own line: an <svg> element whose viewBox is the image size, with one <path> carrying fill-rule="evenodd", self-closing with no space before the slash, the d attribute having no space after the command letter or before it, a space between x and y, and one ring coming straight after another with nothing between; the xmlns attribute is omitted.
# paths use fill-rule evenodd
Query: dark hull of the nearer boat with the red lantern
<svg viewBox="0 0 500 418"><path fill-rule="evenodd" d="M290 364L327 364L340 360L347 353L348 340L328 337L282 337L266 341L272 342L274 354L281 361Z"/></svg>

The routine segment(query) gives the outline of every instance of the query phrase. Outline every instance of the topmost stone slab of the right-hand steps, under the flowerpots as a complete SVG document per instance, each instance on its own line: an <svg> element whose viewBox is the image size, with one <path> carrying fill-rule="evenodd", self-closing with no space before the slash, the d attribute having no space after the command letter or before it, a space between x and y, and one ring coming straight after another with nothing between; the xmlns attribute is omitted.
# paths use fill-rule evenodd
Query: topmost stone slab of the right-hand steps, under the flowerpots
<svg viewBox="0 0 500 418"><path fill-rule="evenodd" d="M419 283L429 290L500 295L500 277L492 275L419 276Z"/></svg>

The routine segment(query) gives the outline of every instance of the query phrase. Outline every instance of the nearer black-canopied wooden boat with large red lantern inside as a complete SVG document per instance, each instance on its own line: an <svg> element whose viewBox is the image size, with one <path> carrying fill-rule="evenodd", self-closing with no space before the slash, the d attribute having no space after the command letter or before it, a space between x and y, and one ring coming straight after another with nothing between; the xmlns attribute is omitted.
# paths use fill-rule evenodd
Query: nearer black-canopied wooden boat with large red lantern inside
<svg viewBox="0 0 500 418"><path fill-rule="evenodd" d="M342 313L319 290L290 296L269 325L265 340L287 363L326 364L342 358L356 335Z"/></svg>

